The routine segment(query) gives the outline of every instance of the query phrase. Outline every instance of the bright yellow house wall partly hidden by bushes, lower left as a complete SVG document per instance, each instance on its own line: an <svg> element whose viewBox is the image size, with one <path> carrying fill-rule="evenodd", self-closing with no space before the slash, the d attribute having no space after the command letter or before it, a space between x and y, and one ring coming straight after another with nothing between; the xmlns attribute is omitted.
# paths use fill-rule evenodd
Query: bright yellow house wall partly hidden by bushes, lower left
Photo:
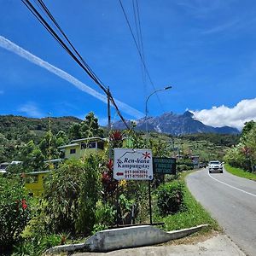
<svg viewBox="0 0 256 256"><path fill-rule="evenodd" d="M49 172L28 172L25 174L25 188L28 195L33 197L42 197L44 195L44 178Z"/></svg>

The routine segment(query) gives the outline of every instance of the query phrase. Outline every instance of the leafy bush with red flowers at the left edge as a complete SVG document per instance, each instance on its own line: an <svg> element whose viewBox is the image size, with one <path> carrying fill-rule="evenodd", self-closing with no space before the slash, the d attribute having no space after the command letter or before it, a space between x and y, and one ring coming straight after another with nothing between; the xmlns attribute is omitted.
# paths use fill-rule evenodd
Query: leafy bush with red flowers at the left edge
<svg viewBox="0 0 256 256"><path fill-rule="evenodd" d="M20 239L30 217L25 190L18 180L0 177L0 254Z"/></svg>

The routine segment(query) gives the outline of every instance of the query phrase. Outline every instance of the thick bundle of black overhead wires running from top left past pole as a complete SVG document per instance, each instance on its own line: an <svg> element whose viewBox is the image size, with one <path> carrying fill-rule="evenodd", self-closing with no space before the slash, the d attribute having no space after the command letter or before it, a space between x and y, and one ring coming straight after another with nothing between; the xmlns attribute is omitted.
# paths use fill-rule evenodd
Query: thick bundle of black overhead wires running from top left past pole
<svg viewBox="0 0 256 256"><path fill-rule="evenodd" d="M76 61L80 67L83 68L85 73L87 73L90 76L90 79L92 79L104 91L104 93L108 96L110 102L113 104L113 107L116 109L119 115L119 118L123 121L125 126L128 129L130 129L130 126L127 124L124 117L120 113L116 102L114 102L113 96L109 88L102 83L101 79L99 79L96 76L96 73L92 71L88 63L84 61L84 58L79 54L79 51L75 49L75 47L73 46L69 38L67 38L66 33L61 29L61 26L57 23L54 16L49 12L49 9L44 4L44 1L34 0L34 3L36 3L38 8L41 9L42 15L30 0L21 0L21 1L26 5L26 8L31 11L32 15L34 15L39 20L39 22L45 27L45 29L53 36L53 38L55 38L55 40L59 44L61 44L61 47L67 51L67 54L70 55L73 58L73 60ZM43 14L46 18L48 18L53 23L55 28L49 25L49 22L43 17Z"/></svg>

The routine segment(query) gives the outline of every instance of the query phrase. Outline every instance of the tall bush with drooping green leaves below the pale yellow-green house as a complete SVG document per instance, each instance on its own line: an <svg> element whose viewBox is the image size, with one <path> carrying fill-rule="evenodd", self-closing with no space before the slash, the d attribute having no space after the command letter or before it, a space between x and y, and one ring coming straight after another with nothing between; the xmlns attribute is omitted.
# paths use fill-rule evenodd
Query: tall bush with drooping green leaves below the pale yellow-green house
<svg viewBox="0 0 256 256"><path fill-rule="evenodd" d="M95 224L100 190L100 160L68 160L52 172L46 183L44 207L53 232L90 234Z"/></svg>

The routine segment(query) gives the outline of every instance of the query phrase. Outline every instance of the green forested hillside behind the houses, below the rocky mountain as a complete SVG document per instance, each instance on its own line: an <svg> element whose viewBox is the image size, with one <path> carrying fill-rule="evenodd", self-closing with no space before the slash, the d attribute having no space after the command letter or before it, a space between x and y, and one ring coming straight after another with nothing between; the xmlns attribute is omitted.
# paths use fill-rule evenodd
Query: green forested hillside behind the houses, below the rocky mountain
<svg viewBox="0 0 256 256"><path fill-rule="evenodd" d="M107 133L98 128L94 113L88 113L84 121L75 117L32 119L14 115L0 116L0 163L24 160L28 155L38 161L49 159L49 154L50 159L58 158L60 155L57 147L72 139L95 134L106 137ZM143 131L138 134L145 137ZM163 149L169 150L172 155L198 154L203 161L222 160L225 149L239 142L238 135L214 133L173 137L150 132L150 138L154 143L160 142L160 147L166 147Z"/></svg>

